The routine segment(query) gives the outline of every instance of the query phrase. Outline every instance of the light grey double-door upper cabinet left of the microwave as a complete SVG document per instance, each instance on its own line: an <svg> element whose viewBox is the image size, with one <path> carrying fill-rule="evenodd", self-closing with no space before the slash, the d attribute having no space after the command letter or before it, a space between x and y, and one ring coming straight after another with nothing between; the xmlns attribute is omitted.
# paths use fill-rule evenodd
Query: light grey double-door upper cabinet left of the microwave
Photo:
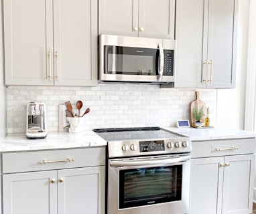
<svg viewBox="0 0 256 214"><path fill-rule="evenodd" d="M97 1L3 0L5 84L97 84Z"/></svg>

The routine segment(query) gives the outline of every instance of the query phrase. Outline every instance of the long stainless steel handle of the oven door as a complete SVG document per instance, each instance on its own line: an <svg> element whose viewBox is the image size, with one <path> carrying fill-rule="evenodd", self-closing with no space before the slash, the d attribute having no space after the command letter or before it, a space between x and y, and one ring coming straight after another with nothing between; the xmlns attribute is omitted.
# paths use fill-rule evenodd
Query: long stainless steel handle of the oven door
<svg viewBox="0 0 256 214"><path fill-rule="evenodd" d="M190 160L190 155L175 158L159 158L155 160L128 160L128 161L111 161L111 167L141 167L151 165L168 165L172 163L180 163Z"/></svg>

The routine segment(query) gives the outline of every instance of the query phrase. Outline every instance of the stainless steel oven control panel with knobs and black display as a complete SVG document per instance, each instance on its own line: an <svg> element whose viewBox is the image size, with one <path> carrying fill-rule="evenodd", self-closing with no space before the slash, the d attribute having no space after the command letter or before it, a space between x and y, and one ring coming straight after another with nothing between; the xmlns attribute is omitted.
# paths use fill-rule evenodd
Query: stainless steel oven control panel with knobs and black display
<svg viewBox="0 0 256 214"><path fill-rule="evenodd" d="M109 157L191 152L190 138L127 140L108 142Z"/></svg>

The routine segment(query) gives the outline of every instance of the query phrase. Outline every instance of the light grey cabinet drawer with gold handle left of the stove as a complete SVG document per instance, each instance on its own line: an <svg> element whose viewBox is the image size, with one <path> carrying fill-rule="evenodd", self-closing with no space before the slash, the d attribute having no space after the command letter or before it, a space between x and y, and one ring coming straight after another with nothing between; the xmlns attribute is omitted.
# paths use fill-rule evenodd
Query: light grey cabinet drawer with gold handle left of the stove
<svg viewBox="0 0 256 214"><path fill-rule="evenodd" d="M105 147L3 153L3 173L105 165ZM68 160L70 158L70 161ZM50 161L41 163L41 161Z"/></svg>

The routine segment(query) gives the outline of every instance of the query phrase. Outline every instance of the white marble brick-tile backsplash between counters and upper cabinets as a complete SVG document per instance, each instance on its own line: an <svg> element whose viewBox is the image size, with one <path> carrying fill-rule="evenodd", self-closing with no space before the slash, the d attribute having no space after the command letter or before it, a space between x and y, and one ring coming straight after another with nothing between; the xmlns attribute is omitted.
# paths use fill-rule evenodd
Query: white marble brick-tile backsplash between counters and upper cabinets
<svg viewBox="0 0 256 214"><path fill-rule="evenodd" d="M200 89L200 99L210 107L210 125L216 124L216 90ZM155 85L100 84L97 87L9 86L7 133L23 133L29 102L46 104L48 132L58 132L59 105L82 100L90 108L86 128L175 126L190 119L196 89L160 88Z"/></svg>

